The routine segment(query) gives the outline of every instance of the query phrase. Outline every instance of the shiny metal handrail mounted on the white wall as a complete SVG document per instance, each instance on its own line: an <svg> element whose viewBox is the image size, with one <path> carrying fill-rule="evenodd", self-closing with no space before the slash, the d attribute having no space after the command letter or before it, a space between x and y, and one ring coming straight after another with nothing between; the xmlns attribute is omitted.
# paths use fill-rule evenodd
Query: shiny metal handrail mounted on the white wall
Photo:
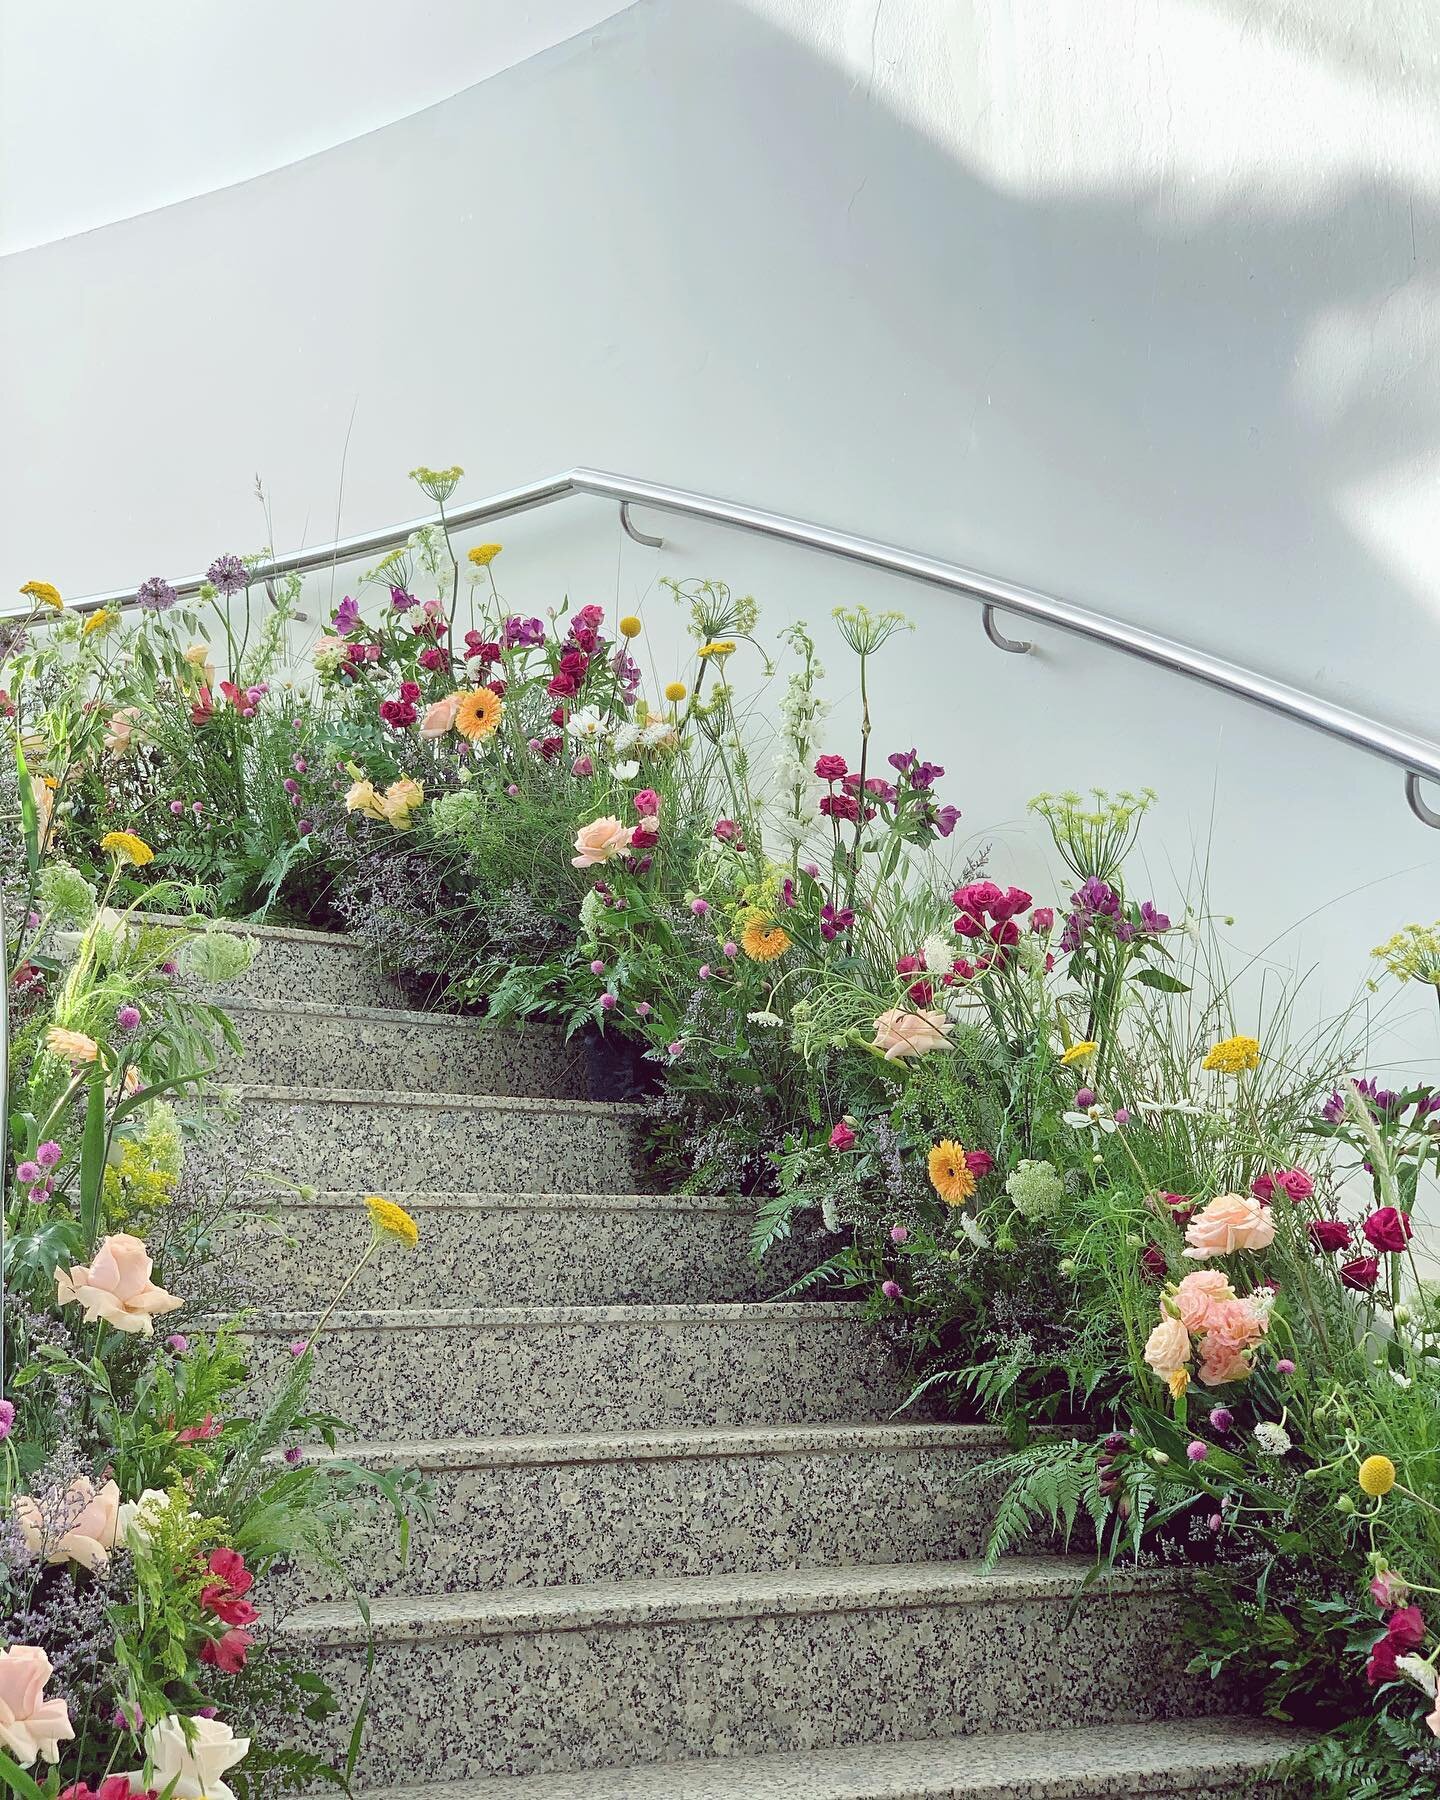
<svg viewBox="0 0 1440 1800"><path fill-rule="evenodd" d="M995 610L1015 614L1033 625L1049 625L1055 630L1069 632L1073 637L1085 637L1091 643L1118 650L1121 655L1136 657L1156 668L1170 670L1190 680L1219 688L1222 693L1237 695L1269 713L1291 718L1310 731L1319 731L1328 738L1337 738L1352 749L1379 756L1406 776L1406 799L1411 812L1424 824L1440 828L1440 812L1431 808L1420 794L1420 779L1440 781L1440 743L1418 738L1397 725L1386 725L1363 713L1336 706L1319 695L1291 688L1287 682L1262 675L1258 670L1228 662L1208 650L1197 650L1174 637L1161 637L1156 632L1125 625L1103 612L1091 612L1053 594L1037 589L1019 587L959 563L941 562L936 556L923 556L918 551L905 551L895 544L882 544L877 538L859 538L848 531L833 531L830 526L815 526L805 518L788 518L783 513L767 513L756 506L742 506L736 500L720 500L709 493L689 493L684 488L666 488L652 481L634 481L628 475L610 475L594 468L572 468L563 475L551 475L547 481L535 481L526 488L511 488L508 493L491 495L488 500L472 500L466 506L446 508L445 513L432 513L427 518L412 518L403 526L391 526L385 531L369 531L362 536L340 538L335 544L322 544L310 551L295 551L290 556L277 556L261 563L254 571L257 583L284 574L310 574L344 562L358 562L401 545L412 531L425 526L446 526L450 531L466 531L472 526L488 524L497 518L509 518L515 513L527 513L538 506L551 506L554 500L571 495L592 495L617 502L621 524L637 542L659 547L664 540L648 536L634 527L630 520L632 506L646 506L661 513L679 513L686 518L702 518L716 526L733 526L751 531L756 536L776 538L781 544L796 544L801 549L821 551L826 556L841 556L846 562L860 563L868 569L884 569L889 574L922 581L950 594L963 594L979 601L983 608L985 632L999 650L1024 653L1028 643L1004 637L995 625ZM205 576L189 576L176 581L180 598L194 596ZM76 601L76 610L94 612L97 607L131 607L133 589L115 589L110 594L90 594ZM13 617L16 608L9 608L0 617Z"/></svg>

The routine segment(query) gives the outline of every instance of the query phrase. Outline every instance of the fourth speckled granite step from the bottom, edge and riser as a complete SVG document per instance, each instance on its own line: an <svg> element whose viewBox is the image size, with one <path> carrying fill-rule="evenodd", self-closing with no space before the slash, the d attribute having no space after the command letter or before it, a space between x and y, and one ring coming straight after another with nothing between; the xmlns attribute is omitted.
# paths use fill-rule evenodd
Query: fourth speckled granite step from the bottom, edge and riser
<svg viewBox="0 0 1440 1800"><path fill-rule="evenodd" d="M247 1314L261 1393L315 1323ZM907 1393L844 1301L342 1310L315 1363L311 1402L387 1440L823 1424L884 1417Z"/></svg>

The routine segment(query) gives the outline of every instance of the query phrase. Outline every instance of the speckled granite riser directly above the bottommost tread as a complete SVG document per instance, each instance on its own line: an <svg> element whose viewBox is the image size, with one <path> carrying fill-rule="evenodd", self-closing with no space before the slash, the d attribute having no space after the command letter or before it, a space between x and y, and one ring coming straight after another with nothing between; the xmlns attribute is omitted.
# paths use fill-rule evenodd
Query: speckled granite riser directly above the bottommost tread
<svg viewBox="0 0 1440 1800"><path fill-rule="evenodd" d="M1220 1710L1174 1595L997 1598L382 1643L360 1773L614 1768ZM322 1649L356 1694L365 1658Z"/></svg>

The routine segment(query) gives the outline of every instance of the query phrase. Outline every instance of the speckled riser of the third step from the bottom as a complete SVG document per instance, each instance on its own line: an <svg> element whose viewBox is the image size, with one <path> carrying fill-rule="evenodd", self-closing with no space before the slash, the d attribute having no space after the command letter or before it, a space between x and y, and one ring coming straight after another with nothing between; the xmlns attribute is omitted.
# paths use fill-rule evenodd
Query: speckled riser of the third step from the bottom
<svg viewBox="0 0 1440 1800"><path fill-rule="evenodd" d="M409 1566L387 1519L347 1535L371 1597L763 1573L977 1555L1004 1492L986 1451L794 1451L437 1471ZM475 1530L475 1521L484 1530ZM358 1573L356 1573L358 1579ZM297 1600L338 1600L326 1571Z"/></svg>

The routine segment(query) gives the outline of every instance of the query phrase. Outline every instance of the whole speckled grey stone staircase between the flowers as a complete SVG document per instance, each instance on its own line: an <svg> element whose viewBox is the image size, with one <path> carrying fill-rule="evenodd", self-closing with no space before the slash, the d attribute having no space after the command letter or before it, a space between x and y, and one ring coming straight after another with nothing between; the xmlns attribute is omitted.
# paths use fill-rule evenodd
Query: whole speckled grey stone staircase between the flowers
<svg viewBox="0 0 1440 1800"><path fill-rule="evenodd" d="M342 1454L437 1494L409 1562L351 1543L365 1800L1271 1791L1296 1739L1184 1674L1183 1577L985 1573L995 1494L967 1476L995 1433L896 1418L855 1307L763 1303L743 1208L648 1193L637 1109L553 1035L407 1012L344 938L252 934L218 1148L315 1190L277 1204L257 1175L230 1246L256 1382L353 1265L365 1192L421 1228L347 1296L313 1388L360 1433ZM281 1588L275 1629L353 1706L355 1604Z"/></svg>

